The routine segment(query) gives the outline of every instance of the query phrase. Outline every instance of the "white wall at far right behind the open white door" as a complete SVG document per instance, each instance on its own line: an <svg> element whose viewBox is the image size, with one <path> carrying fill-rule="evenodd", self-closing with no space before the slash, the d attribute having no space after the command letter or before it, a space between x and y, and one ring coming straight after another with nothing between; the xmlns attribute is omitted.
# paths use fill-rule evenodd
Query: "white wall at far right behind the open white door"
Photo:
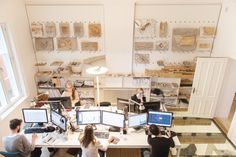
<svg viewBox="0 0 236 157"><path fill-rule="evenodd" d="M223 1L217 36L214 43L213 56L232 58L224 84L221 90L221 98L218 102L216 117L227 117L236 92L236 1ZM236 114L231 123L228 137L236 144Z"/></svg>

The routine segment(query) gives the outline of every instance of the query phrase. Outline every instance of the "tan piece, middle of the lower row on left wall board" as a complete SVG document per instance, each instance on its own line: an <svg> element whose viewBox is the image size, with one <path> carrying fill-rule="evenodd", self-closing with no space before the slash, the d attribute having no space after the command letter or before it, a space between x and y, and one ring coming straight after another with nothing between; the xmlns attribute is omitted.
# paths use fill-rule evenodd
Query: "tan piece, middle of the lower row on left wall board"
<svg viewBox="0 0 236 157"><path fill-rule="evenodd" d="M58 50L76 50L77 49L77 40L76 38L64 37L57 38L57 47Z"/></svg>

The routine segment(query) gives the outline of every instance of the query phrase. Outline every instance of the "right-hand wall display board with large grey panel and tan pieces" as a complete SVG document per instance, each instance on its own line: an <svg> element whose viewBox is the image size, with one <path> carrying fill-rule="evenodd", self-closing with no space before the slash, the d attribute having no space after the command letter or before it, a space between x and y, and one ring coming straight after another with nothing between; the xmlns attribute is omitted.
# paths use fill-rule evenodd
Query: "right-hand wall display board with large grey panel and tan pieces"
<svg viewBox="0 0 236 157"><path fill-rule="evenodd" d="M210 56L220 8L220 4L136 3L133 73L193 64L198 56Z"/></svg>

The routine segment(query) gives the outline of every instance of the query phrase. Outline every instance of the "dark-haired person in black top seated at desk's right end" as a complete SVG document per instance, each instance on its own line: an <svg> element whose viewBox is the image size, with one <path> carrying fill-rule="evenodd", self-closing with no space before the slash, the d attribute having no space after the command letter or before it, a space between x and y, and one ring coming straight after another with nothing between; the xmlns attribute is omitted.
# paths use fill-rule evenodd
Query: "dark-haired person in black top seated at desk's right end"
<svg viewBox="0 0 236 157"><path fill-rule="evenodd" d="M149 126L149 132L147 141L152 147L150 157L168 157L170 147L175 146L170 131L167 131L166 138L161 135L158 126L152 124Z"/></svg>

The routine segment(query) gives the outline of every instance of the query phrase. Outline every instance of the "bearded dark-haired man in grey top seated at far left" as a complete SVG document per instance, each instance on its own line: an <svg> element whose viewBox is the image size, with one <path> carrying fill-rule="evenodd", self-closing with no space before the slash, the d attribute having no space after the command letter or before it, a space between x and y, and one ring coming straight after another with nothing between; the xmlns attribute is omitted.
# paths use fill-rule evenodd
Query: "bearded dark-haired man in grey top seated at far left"
<svg viewBox="0 0 236 157"><path fill-rule="evenodd" d="M23 157L40 157L41 148L35 148L37 135L32 135L32 141L30 143L25 135L20 134L21 124L21 119L12 119L10 121L11 135L3 137L5 150L7 152L19 152Z"/></svg>

